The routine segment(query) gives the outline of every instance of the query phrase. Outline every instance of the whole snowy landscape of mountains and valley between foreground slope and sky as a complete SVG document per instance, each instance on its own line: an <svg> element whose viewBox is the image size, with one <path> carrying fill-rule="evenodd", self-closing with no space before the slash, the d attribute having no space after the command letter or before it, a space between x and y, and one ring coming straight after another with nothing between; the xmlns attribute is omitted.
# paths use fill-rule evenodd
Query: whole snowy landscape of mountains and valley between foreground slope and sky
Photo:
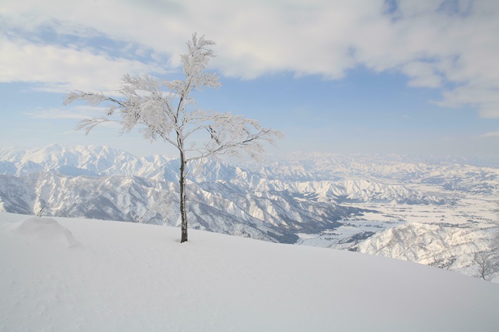
<svg viewBox="0 0 499 332"><path fill-rule="evenodd" d="M178 168L176 159L110 147L4 148L0 211L176 226ZM498 168L297 153L266 164L204 161L188 178L189 223L197 230L474 276L474 253L495 250Z"/></svg>

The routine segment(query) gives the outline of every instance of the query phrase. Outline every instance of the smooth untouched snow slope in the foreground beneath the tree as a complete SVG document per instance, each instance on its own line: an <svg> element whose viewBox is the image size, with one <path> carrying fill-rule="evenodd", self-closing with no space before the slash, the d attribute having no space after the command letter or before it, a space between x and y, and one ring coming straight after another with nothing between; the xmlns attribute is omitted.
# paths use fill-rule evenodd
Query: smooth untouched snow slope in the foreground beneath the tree
<svg viewBox="0 0 499 332"><path fill-rule="evenodd" d="M0 213L0 331L495 331L499 286L381 256Z"/></svg>

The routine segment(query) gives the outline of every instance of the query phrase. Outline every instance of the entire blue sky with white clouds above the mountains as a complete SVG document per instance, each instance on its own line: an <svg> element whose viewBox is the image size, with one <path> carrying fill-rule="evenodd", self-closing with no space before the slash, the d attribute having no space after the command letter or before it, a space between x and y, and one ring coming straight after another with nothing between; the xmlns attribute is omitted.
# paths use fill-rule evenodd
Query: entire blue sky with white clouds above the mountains
<svg viewBox="0 0 499 332"><path fill-rule="evenodd" d="M0 147L174 150L63 106L123 74L181 74L193 32L216 42L198 105L285 132L275 152L499 154L499 1L11 1L0 4Z"/></svg>

